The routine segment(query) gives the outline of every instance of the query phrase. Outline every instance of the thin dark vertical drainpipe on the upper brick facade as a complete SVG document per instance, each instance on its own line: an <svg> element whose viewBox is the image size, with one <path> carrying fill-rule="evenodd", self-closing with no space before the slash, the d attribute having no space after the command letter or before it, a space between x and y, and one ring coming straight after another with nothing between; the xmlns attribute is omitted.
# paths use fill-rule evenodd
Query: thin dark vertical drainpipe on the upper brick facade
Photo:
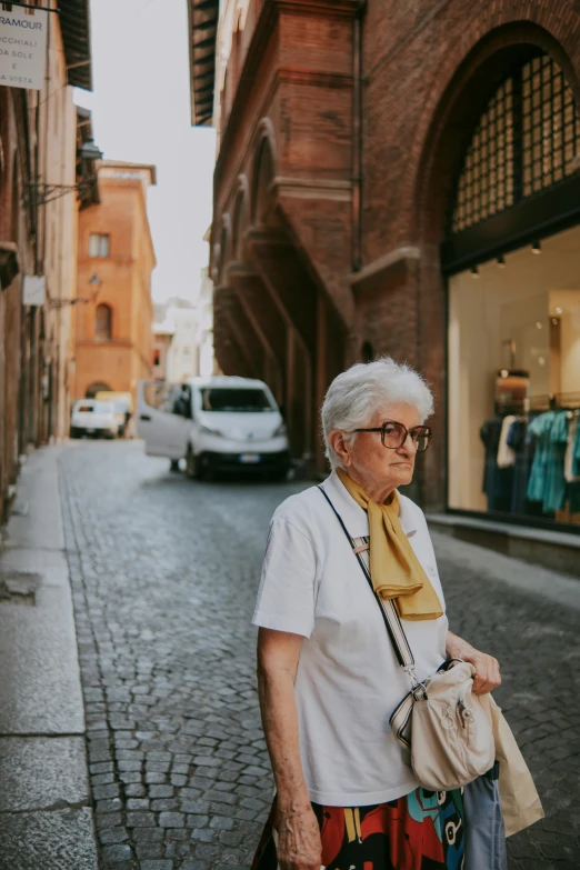
<svg viewBox="0 0 580 870"><path fill-rule="evenodd" d="M367 0L359 0L352 31L352 271L362 268L362 19Z"/></svg>

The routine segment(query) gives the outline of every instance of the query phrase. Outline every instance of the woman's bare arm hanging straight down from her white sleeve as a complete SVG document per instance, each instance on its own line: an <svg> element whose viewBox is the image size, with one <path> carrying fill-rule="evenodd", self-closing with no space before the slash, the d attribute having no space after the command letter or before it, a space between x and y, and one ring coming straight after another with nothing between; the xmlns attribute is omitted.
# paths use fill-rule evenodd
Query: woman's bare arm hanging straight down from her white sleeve
<svg viewBox="0 0 580 870"><path fill-rule="evenodd" d="M321 842L304 783L298 741L294 679L303 638L261 628L258 691L278 803L281 870L320 870Z"/></svg>

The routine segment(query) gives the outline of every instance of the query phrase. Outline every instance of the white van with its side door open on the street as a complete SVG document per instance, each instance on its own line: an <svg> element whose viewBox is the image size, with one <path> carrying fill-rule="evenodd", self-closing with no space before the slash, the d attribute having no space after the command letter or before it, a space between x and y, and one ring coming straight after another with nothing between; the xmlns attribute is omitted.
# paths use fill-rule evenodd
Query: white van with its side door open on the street
<svg viewBox="0 0 580 870"><path fill-rule="evenodd" d="M282 414L262 381L189 378L183 383L140 381L137 432L146 452L186 459L188 477L244 471L283 479L290 449Z"/></svg>

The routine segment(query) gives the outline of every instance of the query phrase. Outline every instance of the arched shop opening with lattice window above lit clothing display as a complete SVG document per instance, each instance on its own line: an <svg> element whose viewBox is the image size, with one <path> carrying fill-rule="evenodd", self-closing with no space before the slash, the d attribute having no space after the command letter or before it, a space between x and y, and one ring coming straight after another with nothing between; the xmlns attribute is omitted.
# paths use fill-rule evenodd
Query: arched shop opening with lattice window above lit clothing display
<svg viewBox="0 0 580 870"><path fill-rule="evenodd" d="M580 531L579 153L561 66L539 46L503 52L440 247L451 510Z"/></svg>

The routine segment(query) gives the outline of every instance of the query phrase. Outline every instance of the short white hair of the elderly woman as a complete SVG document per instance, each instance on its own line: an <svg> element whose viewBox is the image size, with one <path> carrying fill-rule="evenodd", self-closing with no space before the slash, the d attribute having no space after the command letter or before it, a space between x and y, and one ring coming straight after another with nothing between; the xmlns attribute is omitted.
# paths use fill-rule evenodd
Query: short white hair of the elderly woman
<svg viewBox="0 0 580 870"><path fill-rule="evenodd" d="M407 363L381 357L358 362L338 374L322 403L322 433L326 454L332 468L341 462L329 443L333 429L352 432L369 427L377 411L390 402L417 408L421 423L433 413L433 397L424 379ZM351 440L356 436L351 436Z"/></svg>

